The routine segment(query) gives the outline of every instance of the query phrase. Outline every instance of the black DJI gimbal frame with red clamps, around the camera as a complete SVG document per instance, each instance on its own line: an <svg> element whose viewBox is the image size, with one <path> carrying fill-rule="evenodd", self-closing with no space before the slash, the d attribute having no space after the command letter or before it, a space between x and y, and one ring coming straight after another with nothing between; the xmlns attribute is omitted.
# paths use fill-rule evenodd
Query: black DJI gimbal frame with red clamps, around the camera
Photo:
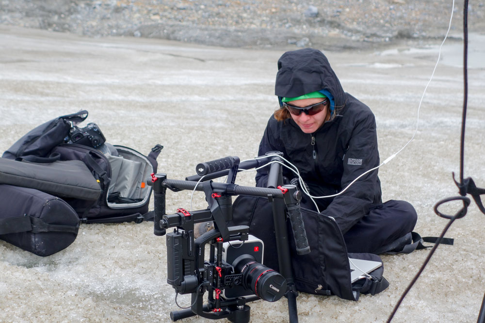
<svg viewBox="0 0 485 323"><path fill-rule="evenodd" d="M175 228L173 232L167 234L167 282L174 287L177 294L191 293L192 295L190 308L170 313L173 321L199 315L208 319L226 318L230 322L246 323L250 320L250 307L246 305L247 302L259 298L276 301L284 294L288 299L290 322L298 322L296 309L298 293L291 270L287 218L291 222L298 254L307 254L310 250L300 211L301 194L295 185L283 185L281 155L279 152L271 152L242 163L238 157L228 156L200 163L196 166L197 175L187 177L185 181L168 179L163 173L152 174L149 184L153 185L154 190L154 234L165 235L166 229ZM253 169L267 164L270 164L267 166L268 187L234 184L239 169ZM226 175L226 183L211 181ZM167 188L172 191L203 191L209 207L206 210L192 212L178 209L177 213L166 215ZM232 264L222 261L222 245L230 241L243 243L247 240L249 232L248 226L227 226L227 222L232 220L232 196L237 195L266 197L273 204L276 248L281 275L269 268L264 270L264 273L273 271L273 279L275 279L271 280L275 283L268 285L274 291L270 290L270 293L265 294L264 297L258 295L256 286L254 292L258 296L230 299L222 297L224 289L239 285L242 279L242 273L235 272ZM214 229L194 239L194 224L207 221L214 222ZM209 261L205 260L207 244L210 246ZM259 277L264 276L264 273ZM280 288L274 286L276 283L280 283L278 285ZM208 292L208 303L204 304L203 295L206 292Z"/></svg>

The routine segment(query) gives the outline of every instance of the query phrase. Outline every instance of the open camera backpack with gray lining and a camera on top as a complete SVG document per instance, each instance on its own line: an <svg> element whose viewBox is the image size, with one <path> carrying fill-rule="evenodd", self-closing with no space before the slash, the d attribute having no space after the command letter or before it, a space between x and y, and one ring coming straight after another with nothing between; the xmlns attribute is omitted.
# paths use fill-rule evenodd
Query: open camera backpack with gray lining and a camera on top
<svg viewBox="0 0 485 323"><path fill-rule="evenodd" d="M151 186L145 184L157 171L156 158L163 146L144 155L111 145L95 123L76 126L87 116L81 110L58 117L17 140L0 158L0 184L61 198L84 223L152 219Z"/></svg>

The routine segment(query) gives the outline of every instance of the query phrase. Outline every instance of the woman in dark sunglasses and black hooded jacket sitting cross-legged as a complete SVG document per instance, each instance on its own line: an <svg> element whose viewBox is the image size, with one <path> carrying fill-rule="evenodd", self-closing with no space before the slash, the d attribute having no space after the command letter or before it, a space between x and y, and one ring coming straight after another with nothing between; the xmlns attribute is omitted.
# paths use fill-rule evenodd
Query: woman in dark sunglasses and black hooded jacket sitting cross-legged
<svg viewBox="0 0 485 323"><path fill-rule="evenodd" d="M310 195L335 195L379 165L372 111L343 91L321 51L284 53L278 60L275 94L280 108L268 122L259 155L282 152L298 168ZM297 182L290 170L283 174ZM264 170L259 170L256 182L266 186ZM377 170L342 194L315 201L323 215L336 220L349 252L400 251L411 242L416 211L405 201L382 203ZM305 195L302 206L316 209Z"/></svg>

